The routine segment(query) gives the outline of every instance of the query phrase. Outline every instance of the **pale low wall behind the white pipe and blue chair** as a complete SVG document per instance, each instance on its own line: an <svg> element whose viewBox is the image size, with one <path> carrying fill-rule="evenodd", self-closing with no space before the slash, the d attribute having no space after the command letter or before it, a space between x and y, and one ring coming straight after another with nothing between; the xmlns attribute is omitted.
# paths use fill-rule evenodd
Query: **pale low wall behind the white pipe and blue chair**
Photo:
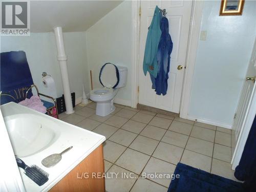
<svg viewBox="0 0 256 192"><path fill-rule="evenodd" d="M76 98L82 96L82 83L89 93L89 79L86 58L86 35L84 32L64 33L71 92ZM26 52L34 83L41 93L50 94L41 80L46 71L56 83L57 96L62 96L62 82L57 61L54 33L31 33L30 36L2 36L1 52L23 50Z"/></svg>

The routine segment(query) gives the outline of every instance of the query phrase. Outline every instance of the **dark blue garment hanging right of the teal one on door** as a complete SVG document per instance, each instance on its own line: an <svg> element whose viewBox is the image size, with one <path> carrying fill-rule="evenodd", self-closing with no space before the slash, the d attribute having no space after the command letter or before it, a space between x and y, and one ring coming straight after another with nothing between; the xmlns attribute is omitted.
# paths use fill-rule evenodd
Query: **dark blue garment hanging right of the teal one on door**
<svg viewBox="0 0 256 192"><path fill-rule="evenodd" d="M160 28L162 31L158 51L157 51L157 62L158 62L158 74L154 78L151 76L152 89L155 89L157 95L166 95L168 88L168 73L170 69L170 54L173 51L173 41L169 35L168 19L162 17Z"/></svg>

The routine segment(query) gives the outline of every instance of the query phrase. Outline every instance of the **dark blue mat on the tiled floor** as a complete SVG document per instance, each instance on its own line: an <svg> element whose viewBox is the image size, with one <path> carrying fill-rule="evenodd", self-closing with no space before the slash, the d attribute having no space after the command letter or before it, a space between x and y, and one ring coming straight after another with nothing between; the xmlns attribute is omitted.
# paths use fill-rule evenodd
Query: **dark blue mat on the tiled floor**
<svg viewBox="0 0 256 192"><path fill-rule="evenodd" d="M245 192L243 184L204 170L178 163L174 172L180 178L172 180L168 192Z"/></svg>

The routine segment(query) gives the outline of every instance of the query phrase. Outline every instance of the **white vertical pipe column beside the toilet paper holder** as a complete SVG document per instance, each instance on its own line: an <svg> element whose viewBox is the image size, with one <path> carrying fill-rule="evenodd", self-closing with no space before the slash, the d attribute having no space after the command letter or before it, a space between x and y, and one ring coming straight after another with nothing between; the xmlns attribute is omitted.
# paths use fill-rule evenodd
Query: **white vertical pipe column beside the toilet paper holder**
<svg viewBox="0 0 256 192"><path fill-rule="evenodd" d="M63 41L63 33L61 27L54 28L56 45L57 45L57 59L59 61L59 68L61 73L62 79L62 86L64 91L64 98L65 98L65 105L66 105L66 113L72 114L74 113L72 99L71 99L71 92L70 92L70 85L69 85L69 74L67 68L67 60L68 57L65 53L65 46Z"/></svg>

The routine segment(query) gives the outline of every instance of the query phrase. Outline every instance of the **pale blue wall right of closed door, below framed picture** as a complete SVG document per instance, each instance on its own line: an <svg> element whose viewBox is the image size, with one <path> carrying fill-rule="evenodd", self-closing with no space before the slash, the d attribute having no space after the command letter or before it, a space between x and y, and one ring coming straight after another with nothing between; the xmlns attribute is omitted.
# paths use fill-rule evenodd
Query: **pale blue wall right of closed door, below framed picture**
<svg viewBox="0 0 256 192"><path fill-rule="evenodd" d="M205 1L188 117L230 127L256 33L256 2L242 16L219 16L220 1Z"/></svg>

